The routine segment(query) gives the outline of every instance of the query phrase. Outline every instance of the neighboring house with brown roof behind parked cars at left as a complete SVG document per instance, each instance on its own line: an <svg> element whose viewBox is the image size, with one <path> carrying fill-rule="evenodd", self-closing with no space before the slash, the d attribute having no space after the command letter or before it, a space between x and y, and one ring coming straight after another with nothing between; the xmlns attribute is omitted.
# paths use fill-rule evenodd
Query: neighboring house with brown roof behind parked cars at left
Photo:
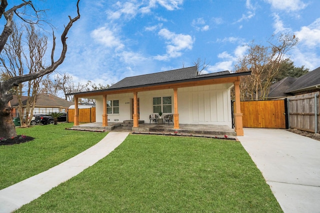
<svg viewBox="0 0 320 213"><path fill-rule="evenodd" d="M26 108L26 96L22 96L22 106L23 106L23 114L25 113ZM10 101L12 107L12 115L17 117L18 115L18 99L17 95L13 95L13 99ZM56 97L47 93L40 93L36 96L35 99L35 107L33 110L33 114L35 113L50 113L50 112L66 112L69 106L73 103L62 98Z"/></svg>

